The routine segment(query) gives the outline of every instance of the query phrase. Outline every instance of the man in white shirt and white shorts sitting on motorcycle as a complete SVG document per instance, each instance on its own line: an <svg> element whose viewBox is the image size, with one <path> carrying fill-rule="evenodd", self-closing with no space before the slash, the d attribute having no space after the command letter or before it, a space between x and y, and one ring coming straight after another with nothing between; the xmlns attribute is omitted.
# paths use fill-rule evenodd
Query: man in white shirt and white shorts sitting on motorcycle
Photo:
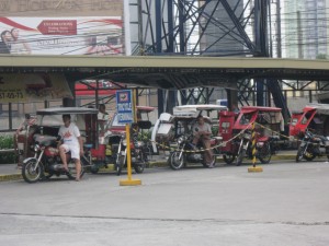
<svg viewBox="0 0 329 246"><path fill-rule="evenodd" d="M61 126L58 131L63 142L63 144L59 143L60 145L58 147L59 155L64 168L68 172L66 153L71 152L71 159L73 159L76 163L76 180L79 181L81 173L80 155L83 153L82 138L79 128L71 122L70 115L63 115L63 121L64 126Z"/></svg>

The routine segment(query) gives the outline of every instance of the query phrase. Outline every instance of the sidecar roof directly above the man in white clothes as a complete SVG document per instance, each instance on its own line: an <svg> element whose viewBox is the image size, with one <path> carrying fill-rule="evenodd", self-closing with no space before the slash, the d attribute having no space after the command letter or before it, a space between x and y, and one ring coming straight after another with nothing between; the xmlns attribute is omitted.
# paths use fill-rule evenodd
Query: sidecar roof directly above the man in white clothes
<svg viewBox="0 0 329 246"><path fill-rule="evenodd" d="M97 108L88 107L50 107L43 108L36 112L36 115L97 115L99 110Z"/></svg>

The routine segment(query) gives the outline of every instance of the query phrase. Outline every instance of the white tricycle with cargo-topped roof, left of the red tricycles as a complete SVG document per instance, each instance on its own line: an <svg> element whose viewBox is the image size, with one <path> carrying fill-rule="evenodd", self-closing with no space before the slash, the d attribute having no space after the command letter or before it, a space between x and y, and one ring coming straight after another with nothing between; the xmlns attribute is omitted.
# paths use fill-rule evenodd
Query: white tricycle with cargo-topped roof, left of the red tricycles
<svg viewBox="0 0 329 246"><path fill-rule="evenodd" d="M170 154L168 159L169 166L177 171L185 167L188 163L201 163L204 167L209 167L211 163L205 162L204 147L201 143L196 148L192 145L193 125L196 124L198 115L203 115L207 122L213 126L218 126L218 112L227 110L226 106L220 105L184 105L173 108L173 114L163 113L160 115L159 120L156 122L152 132L152 142L168 142L170 147ZM215 118L212 122L211 115ZM222 138L213 136L211 138L211 147L214 153L214 163L218 152L218 145Z"/></svg>

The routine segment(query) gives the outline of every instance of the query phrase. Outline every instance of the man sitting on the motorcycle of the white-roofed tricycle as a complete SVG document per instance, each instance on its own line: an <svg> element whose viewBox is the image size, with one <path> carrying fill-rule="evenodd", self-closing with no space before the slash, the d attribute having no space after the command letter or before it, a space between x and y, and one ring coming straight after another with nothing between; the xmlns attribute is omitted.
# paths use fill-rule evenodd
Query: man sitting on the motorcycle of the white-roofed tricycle
<svg viewBox="0 0 329 246"><path fill-rule="evenodd" d="M211 125L205 122L204 117L200 115L197 117L197 122L192 128L193 131L193 141L194 145L197 144L198 141L202 142L205 150L205 161L209 165L209 167L214 167L215 159L213 154L213 150L211 149L211 136L212 128Z"/></svg>

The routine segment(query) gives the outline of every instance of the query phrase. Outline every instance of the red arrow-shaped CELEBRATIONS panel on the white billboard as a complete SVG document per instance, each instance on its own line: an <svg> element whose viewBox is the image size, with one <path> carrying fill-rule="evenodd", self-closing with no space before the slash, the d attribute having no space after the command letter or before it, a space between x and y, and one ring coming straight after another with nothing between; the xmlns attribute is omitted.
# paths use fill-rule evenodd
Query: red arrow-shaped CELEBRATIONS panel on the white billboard
<svg viewBox="0 0 329 246"><path fill-rule="evenodd" d="M43 35L77 35L76 20L49 20L42 21L37 30Z"/></svg>

